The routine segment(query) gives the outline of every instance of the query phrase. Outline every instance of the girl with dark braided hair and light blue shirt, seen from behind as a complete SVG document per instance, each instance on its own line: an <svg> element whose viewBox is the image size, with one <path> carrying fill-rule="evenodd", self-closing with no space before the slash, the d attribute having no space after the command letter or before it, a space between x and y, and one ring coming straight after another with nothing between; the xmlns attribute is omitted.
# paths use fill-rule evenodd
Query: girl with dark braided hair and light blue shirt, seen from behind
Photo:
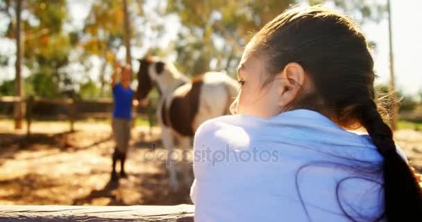
<svg viewBox="0 0 422 222"><path fill-rule="evenodd" d="M421 188L346 17L294 8L248 43L231 116L199 126L196 221L420 221ZM362 126L369 135L346 129Z"/></svg>

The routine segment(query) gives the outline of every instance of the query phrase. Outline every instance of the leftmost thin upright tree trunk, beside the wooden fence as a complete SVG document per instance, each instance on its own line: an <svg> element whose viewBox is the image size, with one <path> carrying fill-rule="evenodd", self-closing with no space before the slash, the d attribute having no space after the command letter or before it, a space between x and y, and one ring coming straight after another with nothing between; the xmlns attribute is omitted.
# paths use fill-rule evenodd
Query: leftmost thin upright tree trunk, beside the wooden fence
<svg viewBox="0 0 422 222"><path fill-rule="evenodd" d="M16 96L22 99L23 96L23 87L22 87L22 22L21 22L21 12L22 12L22 0L17 0L16 4L16 26L15 26L15 35L16 35L16 76L15 76L15 89ZM23 100L22 100L23 101ZM15 103L15 129L22 129L22 118L24 116L24 108L22 101Z"/></svg>

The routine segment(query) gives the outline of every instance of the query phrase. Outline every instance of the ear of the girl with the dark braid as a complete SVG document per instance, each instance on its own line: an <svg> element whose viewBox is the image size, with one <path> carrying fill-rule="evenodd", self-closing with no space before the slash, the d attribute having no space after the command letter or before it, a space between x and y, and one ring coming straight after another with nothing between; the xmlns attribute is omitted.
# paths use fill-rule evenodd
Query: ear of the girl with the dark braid
<svg viewBox="0 0 422 222"><path fill-rule="evenodd" d="M303 83L305 83L305 70L297 62L290 62L276 78L282 79L278 105L284 108L291 104L301 92Z"/></svg>

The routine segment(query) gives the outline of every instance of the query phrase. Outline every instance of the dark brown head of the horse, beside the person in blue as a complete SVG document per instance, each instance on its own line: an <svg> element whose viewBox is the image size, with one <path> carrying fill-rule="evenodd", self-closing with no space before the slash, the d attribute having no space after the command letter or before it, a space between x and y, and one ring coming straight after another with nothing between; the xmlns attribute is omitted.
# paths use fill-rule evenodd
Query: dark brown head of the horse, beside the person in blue
<svg viewBox="0 0 422 222"><path fill-rule="evenodd" d="M146 57L139 60L140 69L137 73L137 99L143 101L148 96L153 86L159 80L160 74L164 71L165 63L156 57Z"/></svg>

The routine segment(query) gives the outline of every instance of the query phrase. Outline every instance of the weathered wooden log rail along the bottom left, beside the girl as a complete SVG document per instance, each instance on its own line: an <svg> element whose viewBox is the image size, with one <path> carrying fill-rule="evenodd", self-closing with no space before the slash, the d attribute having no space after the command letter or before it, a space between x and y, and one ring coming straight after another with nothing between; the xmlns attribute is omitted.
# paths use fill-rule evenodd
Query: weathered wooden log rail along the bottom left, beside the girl
<svg viewBox="0 0 422 222"><path fill-rule="evenodd" d="M0 222L16 221L177 221L193 222L194 205L174 206L0 206Z"/></svg>

